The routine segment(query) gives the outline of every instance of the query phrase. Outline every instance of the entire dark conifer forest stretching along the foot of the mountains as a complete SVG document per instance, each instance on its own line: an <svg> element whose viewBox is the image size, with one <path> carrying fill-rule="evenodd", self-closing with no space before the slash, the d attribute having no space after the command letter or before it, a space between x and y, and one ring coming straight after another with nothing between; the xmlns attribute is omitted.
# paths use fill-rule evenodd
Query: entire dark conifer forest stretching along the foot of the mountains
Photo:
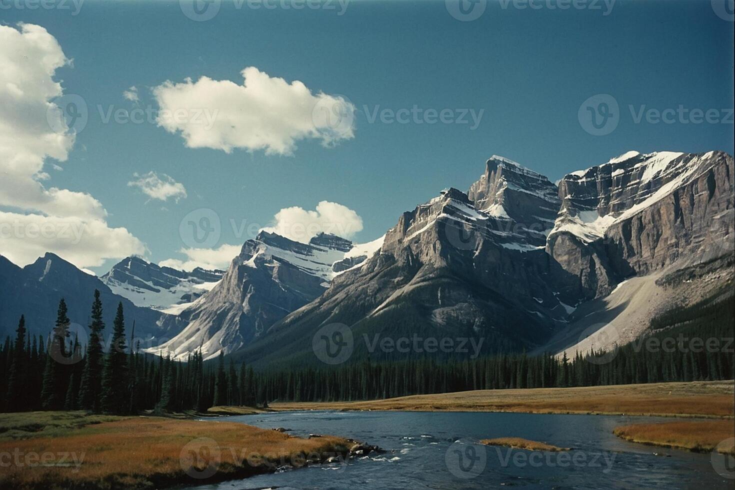
<svg viewBox="0 0 735 490"><path fill-rule="evenodd" d="M47 339L29 335L24 317L18 320L15 338L0 347L0 390L7 394L1 398L2 411L204 412L212 406L267 406L274 400L371 400L473 389L735 378L733 297L668 311L650 321L649 336L572 359L514 353L437 362L423 356L258 371L223 355L204 362L198 352L187 361L143 353L129 345L134 326L128 333L122 305L111 328L104 325L102 309L96 292L87 345L72 338L63 299ZM101 341L105 336L111 339L107 352ZM716 342L708 347L708 339Z"/></svg>

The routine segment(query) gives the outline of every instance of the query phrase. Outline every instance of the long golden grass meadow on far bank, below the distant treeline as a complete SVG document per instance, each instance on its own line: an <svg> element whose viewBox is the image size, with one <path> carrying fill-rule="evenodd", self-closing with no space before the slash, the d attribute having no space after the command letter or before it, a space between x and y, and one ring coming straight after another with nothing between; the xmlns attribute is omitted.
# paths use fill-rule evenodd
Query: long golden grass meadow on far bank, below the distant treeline
<svg viewBox="0 0 735 490"><path fill-rule="evenodd" d="M362 402L271 403L270 408L734 417L734 386L733 381L693 381L574 388L485 389Z"/></svg>

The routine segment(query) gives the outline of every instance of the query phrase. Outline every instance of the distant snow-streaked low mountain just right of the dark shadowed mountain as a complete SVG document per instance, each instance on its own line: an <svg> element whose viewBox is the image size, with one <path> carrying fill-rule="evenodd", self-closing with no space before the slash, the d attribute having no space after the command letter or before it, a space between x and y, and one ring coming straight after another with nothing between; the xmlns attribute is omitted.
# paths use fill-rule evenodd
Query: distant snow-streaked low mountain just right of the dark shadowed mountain
<svg viewBox="0 0 735 490"><path fill-rule="evenodd" d="M115 294L128 298L137 306L147 306L168 313L177 313L183 305L193 303L220 281L223 270L191 272L171 267L159 267L140 257L127 257L115 264L100 279Z"/></svg>

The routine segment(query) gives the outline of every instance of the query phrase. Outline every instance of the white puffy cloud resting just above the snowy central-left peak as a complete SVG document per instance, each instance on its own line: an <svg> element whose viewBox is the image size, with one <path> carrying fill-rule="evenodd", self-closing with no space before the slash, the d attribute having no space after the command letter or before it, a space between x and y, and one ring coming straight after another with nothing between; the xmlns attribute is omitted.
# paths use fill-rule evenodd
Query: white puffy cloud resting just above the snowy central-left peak
<svg viewBox="0 0 735 490"><path fill-rule="evenodd" d="M281 209L273 221L273 226L263 230L304 243L320 232L351 238L362 231L362 217L347 206L329 201L321 201L314 211L298 206Z"/></svg>

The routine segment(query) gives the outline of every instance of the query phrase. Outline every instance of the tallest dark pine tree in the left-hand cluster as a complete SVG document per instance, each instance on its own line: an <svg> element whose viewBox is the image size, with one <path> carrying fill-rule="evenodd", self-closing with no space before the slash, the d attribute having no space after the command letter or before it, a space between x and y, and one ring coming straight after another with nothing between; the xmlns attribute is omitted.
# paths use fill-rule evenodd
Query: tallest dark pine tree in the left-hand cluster
<svg viewBox="0 0 735 490"><path fill-rule="evenodd" d="M102 344L101 334L104 330L102 320L102 302L99 291L95 289L92 303L92 323L90 323L90 341L87 345L87 359L82 373L82 385L79 388L79 407L84 410L100 411L102 392Z"/></svg>

